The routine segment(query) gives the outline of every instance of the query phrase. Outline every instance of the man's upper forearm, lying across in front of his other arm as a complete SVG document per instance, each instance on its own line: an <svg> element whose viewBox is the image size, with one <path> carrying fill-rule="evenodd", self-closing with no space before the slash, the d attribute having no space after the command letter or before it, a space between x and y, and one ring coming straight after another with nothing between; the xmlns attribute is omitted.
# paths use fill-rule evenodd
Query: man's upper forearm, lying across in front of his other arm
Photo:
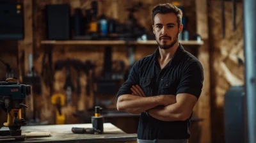
<svg viewBox="0 0 256 143"><path fill-rule="evenodd" d="M117 109L131 114L140 114L161 105L161 96L141 97L124 94L118 98Z"/></svg>

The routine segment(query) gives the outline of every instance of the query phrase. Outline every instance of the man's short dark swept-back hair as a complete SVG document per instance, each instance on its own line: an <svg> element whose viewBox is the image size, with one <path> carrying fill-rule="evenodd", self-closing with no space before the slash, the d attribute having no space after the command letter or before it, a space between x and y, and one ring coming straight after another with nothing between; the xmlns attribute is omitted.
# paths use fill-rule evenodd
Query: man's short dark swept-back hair
<svg viewBox="0 0 256 143"><path fill-rule="evenodd" d="M174 13L175 15L177 15L178 27L180 26L183 13L179 8L177 8L177 6L173 6L170 3L158 4L157 6L155 6L152 10L153 25L154 25L154 18L157 13L160 13L160 14Z"/></svg>

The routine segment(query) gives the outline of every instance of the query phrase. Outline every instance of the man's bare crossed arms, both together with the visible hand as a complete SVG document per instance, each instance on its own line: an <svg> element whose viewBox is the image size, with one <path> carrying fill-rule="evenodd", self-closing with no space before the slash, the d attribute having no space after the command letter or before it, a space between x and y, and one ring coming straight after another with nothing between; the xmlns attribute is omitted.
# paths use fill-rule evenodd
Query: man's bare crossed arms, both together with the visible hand
<svg viewBox="0 0 256 143"><path fill-rule="evenodd" d="M117 109L131 114L148 114L161 121L184 121L189 118L197 98L192 94L159 95L145 97L140 86L132 86L132 94L118 98ZM164 105L164 106L159 106Z"/></svg>

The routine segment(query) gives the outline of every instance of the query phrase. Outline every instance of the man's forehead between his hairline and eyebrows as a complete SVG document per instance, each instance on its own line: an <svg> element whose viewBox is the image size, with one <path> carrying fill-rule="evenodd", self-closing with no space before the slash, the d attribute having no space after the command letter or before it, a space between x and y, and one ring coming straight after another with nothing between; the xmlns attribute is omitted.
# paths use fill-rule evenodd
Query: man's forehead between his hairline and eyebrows
<svg viewBox="0 0 256 143"><path fill-rule="evenodd" d="M168 24L168 23L177 24L177 16L174 13L166 13L166 14L157 13L156 16L154 17L154 23L155 24Z"/></svg>

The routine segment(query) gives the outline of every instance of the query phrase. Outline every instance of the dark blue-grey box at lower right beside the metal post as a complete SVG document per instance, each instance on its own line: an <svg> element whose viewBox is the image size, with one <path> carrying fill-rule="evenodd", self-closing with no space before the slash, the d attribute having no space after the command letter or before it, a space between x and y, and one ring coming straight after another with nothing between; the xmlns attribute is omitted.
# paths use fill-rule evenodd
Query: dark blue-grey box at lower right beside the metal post
<svg viewBox="0 0 256 143"><path fill-rule="evenodd" d="M245 102L244 86L232 86L225 93L224 123L225 142L246 142Z"/></svg>

